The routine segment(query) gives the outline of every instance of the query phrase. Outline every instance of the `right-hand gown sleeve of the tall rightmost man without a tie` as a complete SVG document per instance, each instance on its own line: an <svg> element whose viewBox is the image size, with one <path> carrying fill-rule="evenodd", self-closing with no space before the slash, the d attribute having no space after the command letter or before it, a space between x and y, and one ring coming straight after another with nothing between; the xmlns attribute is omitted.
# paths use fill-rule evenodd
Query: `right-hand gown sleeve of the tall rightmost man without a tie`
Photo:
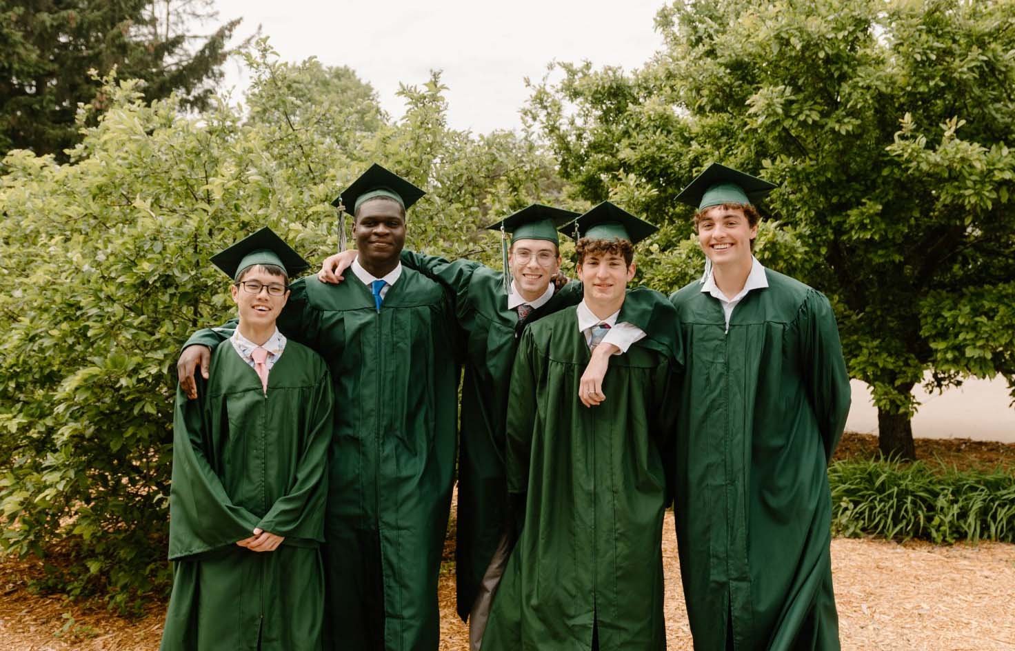
<svg viewBox="0 0 1015 651"><path fill-rule="evenodd" d="M808 292L800 314L801 360L818 431L830 460L850 413L850 374L831 305L816 290Z"/></svg>

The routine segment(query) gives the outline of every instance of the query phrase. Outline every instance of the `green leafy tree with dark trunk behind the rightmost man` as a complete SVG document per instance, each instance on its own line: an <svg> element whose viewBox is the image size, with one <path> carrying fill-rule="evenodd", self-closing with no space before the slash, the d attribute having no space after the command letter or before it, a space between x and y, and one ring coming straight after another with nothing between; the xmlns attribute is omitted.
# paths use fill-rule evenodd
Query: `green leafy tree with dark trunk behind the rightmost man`
<svg viewBox="0 0 1015 651"><path fill-rule="evenodd" d="M583 197L667 224L661 288L700 256L674 201L696 172L779 182L758 256L829 296L881 450L912 458L917 384L1015 385L1013 16L1010 0L676 2L641 69L560 65L527 115Z"/></svg>

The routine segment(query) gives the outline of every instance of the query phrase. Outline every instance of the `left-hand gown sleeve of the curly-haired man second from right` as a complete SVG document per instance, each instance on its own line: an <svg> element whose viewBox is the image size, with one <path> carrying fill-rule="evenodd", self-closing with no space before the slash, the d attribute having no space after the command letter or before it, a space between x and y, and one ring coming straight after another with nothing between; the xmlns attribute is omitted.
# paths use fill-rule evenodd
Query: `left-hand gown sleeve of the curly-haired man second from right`
<svg viewBox="0 0 1015 651"><path fill-rule="evenodd" d="M504 450L507 499L515 519L516 533L521 530L525 520L525 497L529 491L529 459L532 454L532 430L536 425L540 366L539 348L532 330L526 329L512 369Z"/></svg>

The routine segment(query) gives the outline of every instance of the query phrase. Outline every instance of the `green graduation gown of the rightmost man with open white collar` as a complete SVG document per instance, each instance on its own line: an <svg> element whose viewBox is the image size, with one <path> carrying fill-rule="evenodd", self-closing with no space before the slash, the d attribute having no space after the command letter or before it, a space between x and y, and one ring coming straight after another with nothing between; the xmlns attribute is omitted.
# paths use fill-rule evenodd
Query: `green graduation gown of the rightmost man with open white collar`
<svg viewBox="0 0 1015 651"><path fill-rule="evenodd" d="M670 300L686 359L676 442L680 569L694 648L838 649L826 466L850 409L820 292L765 269L734 309ZM607 393L609 396L609 393Z"/></svg>

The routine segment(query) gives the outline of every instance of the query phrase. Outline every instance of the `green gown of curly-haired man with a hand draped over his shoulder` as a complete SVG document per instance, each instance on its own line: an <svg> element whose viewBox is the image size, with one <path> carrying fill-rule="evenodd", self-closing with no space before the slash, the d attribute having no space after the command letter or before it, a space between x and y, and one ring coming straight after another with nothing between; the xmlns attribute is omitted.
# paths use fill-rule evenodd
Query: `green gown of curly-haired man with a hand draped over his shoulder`
<svg viewBox="0 0 1015 651"><path fill-rule="evenodd" d="M576 310L522 336L512 374L506 471L525 504L483 651L666 647L661 448L672 429L666 355L639 343L613 357L606 402L584 406L589 363ZM517 496L517 497L516 497Z"/></svg>

